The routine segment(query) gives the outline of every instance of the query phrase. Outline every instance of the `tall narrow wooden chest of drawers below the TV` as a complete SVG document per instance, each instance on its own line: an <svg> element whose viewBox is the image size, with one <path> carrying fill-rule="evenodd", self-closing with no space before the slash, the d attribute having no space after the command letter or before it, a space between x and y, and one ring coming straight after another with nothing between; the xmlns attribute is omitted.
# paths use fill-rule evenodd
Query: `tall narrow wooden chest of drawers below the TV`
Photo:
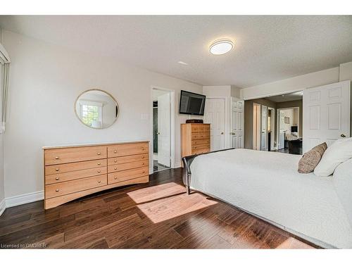
<svg viewBox="0 0 352 264"><path fill-rule="evenodd" d="M181 157L210 151L210 124L181 124Z"/></svg>

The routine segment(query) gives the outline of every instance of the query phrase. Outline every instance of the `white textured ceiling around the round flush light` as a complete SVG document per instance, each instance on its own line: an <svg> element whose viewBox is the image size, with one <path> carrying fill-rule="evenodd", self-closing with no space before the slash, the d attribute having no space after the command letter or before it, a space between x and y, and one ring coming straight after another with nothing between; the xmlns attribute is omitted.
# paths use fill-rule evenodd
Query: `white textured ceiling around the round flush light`
<svg viewBox="0 0 352 264"><path fill-rule="evenodd" d="M0 26L203 85L250 87L352 61L351 15L2 15ZM220 38L234 49L210 55Z"/></svg>

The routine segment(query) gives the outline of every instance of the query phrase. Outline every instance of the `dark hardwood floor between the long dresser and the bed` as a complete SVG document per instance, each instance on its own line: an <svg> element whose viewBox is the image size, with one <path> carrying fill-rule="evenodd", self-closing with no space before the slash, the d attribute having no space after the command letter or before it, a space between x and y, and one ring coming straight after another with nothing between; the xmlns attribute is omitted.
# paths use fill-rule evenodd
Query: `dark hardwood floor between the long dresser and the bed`
<svg viewBox="0 0 352 264"><path fill-rule="evenodd" d="M308 249L314 245L226 203L193 192L182 169L44 210L43 202L7 208L0 248Z"/></svg>

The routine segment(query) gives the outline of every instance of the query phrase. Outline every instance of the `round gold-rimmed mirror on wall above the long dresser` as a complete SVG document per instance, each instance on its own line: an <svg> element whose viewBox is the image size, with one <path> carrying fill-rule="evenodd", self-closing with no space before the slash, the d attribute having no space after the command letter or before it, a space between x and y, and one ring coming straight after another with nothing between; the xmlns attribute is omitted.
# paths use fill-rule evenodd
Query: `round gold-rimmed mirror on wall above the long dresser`
<svg viewBox="0 0 352 264"><path fill-rule="evenodd" d="M80 94L75 103L77 118L92 128L106 128L118 118L118 102L111 94L91 89Z"/></svg>

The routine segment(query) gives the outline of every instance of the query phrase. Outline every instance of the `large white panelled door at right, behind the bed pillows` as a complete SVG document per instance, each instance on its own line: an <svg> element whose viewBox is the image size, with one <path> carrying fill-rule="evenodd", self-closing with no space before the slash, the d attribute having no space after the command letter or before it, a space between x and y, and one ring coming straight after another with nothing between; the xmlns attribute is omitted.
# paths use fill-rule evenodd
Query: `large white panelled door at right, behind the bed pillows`
<svg viewBox="0 0 352 264"><path fill-rule="evenodd" d="M303 151L350 137L351 81L303 91Z"/></svg>

